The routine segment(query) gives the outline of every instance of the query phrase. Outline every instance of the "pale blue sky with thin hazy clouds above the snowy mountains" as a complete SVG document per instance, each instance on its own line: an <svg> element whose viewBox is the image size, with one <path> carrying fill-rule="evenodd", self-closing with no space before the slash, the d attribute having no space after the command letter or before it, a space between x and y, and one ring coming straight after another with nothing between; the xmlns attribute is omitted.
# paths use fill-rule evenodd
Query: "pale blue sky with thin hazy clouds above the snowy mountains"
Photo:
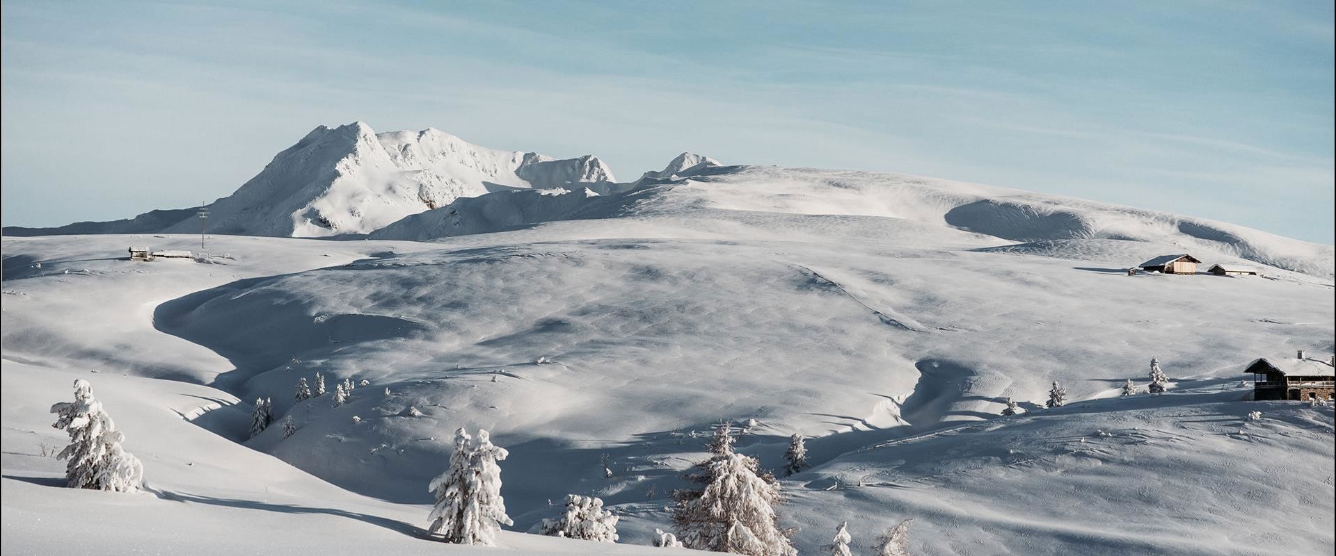
<svg viewBox="0 0 1336 556"><path fill-rule="evenodd" d="M234 191L319 124L1070 195L1333 243L1299 3L3 3L3 216ZM1006 4L1006 5L1003 5Z"/></svg>

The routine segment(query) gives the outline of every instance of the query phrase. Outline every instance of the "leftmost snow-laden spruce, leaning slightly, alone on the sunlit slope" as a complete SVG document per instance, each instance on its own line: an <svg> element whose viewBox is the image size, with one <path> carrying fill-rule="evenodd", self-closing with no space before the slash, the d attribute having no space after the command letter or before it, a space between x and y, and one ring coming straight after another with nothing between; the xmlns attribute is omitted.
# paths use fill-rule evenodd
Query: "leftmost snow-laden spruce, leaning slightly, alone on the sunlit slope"
<svg viewBox="0 0 1336 556"><path fill-rule="evenodd" d="M52 427L69 433L69 445L56 455L65 463L65 487L96 491L134 492L144 479L139 459L126 452L126 436L92 397L87 380L75 380L75 401L51 405L56 413Z"/></svg>

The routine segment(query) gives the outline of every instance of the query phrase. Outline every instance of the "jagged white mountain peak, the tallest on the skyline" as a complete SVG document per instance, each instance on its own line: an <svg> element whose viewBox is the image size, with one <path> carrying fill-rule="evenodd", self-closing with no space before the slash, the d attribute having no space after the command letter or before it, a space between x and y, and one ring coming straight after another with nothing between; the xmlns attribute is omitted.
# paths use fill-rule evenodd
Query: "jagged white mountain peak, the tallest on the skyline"
<svg viewBox="0 0 1336 556"><path fill-rule="evenodd" d="M211 229L265 236L367 233L460 197L501 188L613 181L592 155L556 159L470 144L436 128L377 133L363 121L319 125L219 199ZM168 232L195 229L191 220Z"/></svg>

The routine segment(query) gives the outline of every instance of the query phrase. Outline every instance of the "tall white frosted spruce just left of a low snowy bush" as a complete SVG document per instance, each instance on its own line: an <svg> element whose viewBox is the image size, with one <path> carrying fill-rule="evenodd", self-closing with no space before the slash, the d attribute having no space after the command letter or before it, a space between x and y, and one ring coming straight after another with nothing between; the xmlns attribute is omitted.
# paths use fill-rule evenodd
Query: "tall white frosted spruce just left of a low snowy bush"
<svg viewBox="0 0 1336 556"><path fill-rule="evenodd" d="M494 545L501 524L512 524L497 465L506 456L509 452L492 444L486 431L478 429L477 440L464 428L456 431L449 469L428 485L436 493L428 533L446 543Z"/></svg>

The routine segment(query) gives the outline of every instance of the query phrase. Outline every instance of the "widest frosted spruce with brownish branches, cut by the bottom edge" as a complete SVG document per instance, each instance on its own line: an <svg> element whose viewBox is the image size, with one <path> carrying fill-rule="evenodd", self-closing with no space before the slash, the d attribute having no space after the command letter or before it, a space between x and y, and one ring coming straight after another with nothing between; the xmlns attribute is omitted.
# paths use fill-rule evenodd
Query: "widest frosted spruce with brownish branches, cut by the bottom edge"
<svg viewBox="0 0 1336 556"><path fill-rule="evenodd" d="M762 472L754 457L733 451L731 423L715 428L712 456L687 479L700 491L673 492L673 524L687 548L751 556L794 556L792 531L776 524L774 504L782 500L775 476Z"/></svg>

